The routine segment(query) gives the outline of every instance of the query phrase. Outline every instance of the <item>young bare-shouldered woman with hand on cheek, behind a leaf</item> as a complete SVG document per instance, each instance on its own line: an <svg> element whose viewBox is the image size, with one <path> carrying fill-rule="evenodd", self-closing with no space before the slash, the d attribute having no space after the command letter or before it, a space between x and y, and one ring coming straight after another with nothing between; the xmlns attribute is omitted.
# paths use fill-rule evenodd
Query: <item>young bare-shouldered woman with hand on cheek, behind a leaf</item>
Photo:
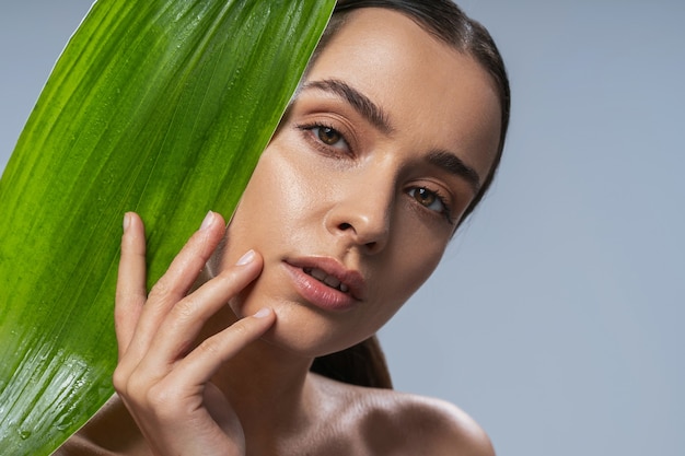
<svg viewBox="0 0 685 456"><path fill-rule="evenodd" d="M373 335L486 191L508 116L495 45L449 0L341 2L228 229L208 213L148 293L125 215L118 395L58 454L494 454L390 389Z"/></svg>

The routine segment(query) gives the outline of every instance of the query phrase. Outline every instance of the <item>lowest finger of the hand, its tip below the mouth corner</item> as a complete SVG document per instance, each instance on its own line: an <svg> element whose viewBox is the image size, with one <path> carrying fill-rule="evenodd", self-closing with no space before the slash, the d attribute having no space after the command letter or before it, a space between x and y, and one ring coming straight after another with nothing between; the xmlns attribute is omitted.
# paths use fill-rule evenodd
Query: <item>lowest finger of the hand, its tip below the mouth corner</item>
<svg viewBox="0 0 685 456"><path fill-rule="evenodd" d="M206 339L177 363L167 381L174 385L201 387L217 370L274 326L276 314L265 307Z"/></svg>

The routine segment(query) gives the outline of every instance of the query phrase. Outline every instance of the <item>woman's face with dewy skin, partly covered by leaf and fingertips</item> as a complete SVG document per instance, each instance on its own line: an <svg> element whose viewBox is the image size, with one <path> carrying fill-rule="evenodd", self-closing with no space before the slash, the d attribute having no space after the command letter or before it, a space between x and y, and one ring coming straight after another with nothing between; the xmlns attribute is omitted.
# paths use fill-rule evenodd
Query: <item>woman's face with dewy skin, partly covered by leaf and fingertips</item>
<svg viewBox="0 0 685 456"><path fill-rule="evenodd" d="M229 226L222 264L264 271L231 302L277 314L306 355L374 334L438 265L487 175L500 108L486 71L397 12L351 13L311 67Z"/></svg>

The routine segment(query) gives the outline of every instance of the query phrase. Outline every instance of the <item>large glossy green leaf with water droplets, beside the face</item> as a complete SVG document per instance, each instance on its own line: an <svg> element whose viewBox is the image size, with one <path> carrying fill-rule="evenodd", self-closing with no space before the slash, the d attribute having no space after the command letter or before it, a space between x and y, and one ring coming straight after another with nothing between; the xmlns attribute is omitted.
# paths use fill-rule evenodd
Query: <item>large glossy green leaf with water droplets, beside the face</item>
<svg viewBox="0 0 685 456"><path fill-rule="evenodd" d="M121 218L155 280L230 215L333 0L101 0L0 180L0 452L47 454L113 393Z"/></svg>

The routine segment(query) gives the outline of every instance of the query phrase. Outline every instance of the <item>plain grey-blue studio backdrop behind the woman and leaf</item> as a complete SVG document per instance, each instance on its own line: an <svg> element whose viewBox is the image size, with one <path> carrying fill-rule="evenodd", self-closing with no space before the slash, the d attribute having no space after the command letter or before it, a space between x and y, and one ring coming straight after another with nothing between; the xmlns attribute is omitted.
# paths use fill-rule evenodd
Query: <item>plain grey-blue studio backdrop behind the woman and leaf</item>
<svg viewBox="0 0 685 456"><path fill-rule="evenodd" d="M89 0L0 7L0 168ZM685 454L685 2L465 0L506 56L499 178L383 331L500 455Z"/></svg>

